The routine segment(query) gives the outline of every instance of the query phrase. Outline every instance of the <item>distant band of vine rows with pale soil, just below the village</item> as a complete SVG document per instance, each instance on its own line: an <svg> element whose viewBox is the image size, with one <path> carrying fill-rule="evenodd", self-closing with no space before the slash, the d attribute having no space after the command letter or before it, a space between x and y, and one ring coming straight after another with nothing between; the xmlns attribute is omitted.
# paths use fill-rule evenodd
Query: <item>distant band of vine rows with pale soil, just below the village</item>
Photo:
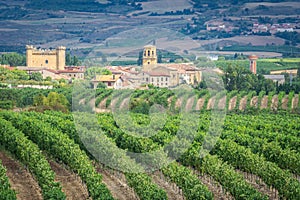
<svg viewBox="0 0 300 200"><path fill-rule="evenodd" d="M210 90L193 90L186 94L175 94L171 90L136 90L134 92L124 91L122 94L113 92L113 90L97 90L95 95L89 95L90 90L87 93L82 93L77 97L79 99L86 98L95 112L110 112L113 107L119 107L121 102L113 101L116 97L130 100L130 108L134 112L140 112L147 114L143 110L149 109L154 104L159 104L167 107L171 111L181 108L190 107L190 109L211 110L211 109L225 109L227 111L249 111L249 110L267 110L267 111L290 111L298 112L300 108L300 101L298 94L293 91L286 94L280 92L275 94L274 92L262 91L256 93L256 91L231 91L231 92L215 92ZM126 96L125 93L128 93ZM78 106L78 105L76 105ZM127 105L126 105L127 106Z"/></svg>

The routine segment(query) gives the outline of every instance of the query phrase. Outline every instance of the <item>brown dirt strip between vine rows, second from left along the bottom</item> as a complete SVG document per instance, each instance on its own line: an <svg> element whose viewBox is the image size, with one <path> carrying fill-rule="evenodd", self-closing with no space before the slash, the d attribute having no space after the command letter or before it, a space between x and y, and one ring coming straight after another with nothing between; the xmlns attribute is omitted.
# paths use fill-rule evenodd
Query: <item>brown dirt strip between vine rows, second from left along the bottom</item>
<svg viewBox="0 0 300 200"><path fill-rule="evenodd" d="M82 184L80 177L52 160L50 160L49 163L51 169L56 174L55 180L61 183L62 190L66 194L67 199L89 199L88 190L86 186Z"/></svg>

